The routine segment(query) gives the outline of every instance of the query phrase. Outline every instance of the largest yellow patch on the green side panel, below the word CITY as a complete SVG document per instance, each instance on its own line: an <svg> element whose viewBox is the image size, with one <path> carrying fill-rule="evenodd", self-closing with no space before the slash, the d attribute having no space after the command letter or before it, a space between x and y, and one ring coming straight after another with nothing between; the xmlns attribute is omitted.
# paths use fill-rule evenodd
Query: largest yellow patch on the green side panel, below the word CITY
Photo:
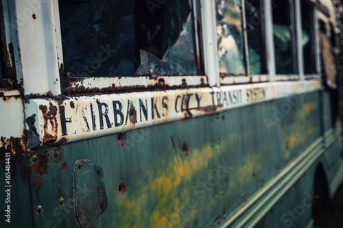
<svg viewBox="0 0 343 228"><path fill-rule="evenodd" d="M196 196L192 183L198 172L206 172L211 162L219 162L220 147L205 144L200 149L189 151L188 156L171 155L161 160L161 166L153 166L149 184L137 183L142 195L122 199L122 223L132 227L185 227L197 214L196 208L185 207L187 200ZM182 158L180 157L182 156ZM150 213L147 216L147 213Z"/></svg>

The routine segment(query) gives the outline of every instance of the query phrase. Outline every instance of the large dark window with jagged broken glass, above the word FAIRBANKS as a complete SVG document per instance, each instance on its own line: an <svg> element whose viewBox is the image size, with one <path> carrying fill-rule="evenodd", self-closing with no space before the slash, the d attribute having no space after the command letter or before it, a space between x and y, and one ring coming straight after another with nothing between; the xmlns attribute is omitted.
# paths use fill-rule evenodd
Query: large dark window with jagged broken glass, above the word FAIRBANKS
<svg viewBox="0 0 343 228"><path fill-rule="evenodd" d="M189 0L59 0L64 70L79 77L199 75Z"/></svg>

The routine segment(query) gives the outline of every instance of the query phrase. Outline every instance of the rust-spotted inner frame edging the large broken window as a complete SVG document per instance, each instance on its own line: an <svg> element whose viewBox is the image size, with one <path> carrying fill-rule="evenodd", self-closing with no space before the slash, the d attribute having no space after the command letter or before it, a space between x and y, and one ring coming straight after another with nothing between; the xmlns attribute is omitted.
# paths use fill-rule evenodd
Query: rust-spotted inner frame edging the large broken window
<svg viewBox="0 0 343 228"><path fill-rule="evenodd" d="M205 0L206 1L206 0ZM203 66L206 56L204 56L204 26L200 23L202 20L202 7L200 1L192 0L193 2L193 22L195 29L195 44L196 51L198 51L198 62ZM58 3L54 5L55 12L58 12ZM57 8L57 9L56 9ZM57 34L58 49L62 50L62 36L60 31ZM62 52L61 52L62 53ZM122 76L115 77L73 77L72 74L64 72L63 56L59 58L58 64L60 66L60 86L61 94L82 94L88 92L129 92L129 91L145 91L152 89L177 89L177 88L199 88L214 86L210 84L206 69L202 68L202 75L182 75L182 76ZM198 67L199 68L199 67ZM213 81L213 80L212 80Z"/></svg>

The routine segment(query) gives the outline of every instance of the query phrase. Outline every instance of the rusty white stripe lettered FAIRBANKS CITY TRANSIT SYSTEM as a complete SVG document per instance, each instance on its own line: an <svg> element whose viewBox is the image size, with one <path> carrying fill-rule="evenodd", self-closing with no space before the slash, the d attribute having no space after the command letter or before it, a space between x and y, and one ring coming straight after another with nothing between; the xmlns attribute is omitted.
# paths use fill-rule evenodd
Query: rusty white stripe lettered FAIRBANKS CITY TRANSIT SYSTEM
<svg viewBox="0 0 343 228"><path fill-rule="evenodd" d="M30 136L33 137L29 139L28 148L43 146L47 141L51 145L116 134L282 97L301 97L320 88L318 80L286 81L221 88L84 95L61 101L31 99L25 103L26 117L33 120L25 127L32 131ZM137 112L136 123L130 122L131 105Z"/></svg>

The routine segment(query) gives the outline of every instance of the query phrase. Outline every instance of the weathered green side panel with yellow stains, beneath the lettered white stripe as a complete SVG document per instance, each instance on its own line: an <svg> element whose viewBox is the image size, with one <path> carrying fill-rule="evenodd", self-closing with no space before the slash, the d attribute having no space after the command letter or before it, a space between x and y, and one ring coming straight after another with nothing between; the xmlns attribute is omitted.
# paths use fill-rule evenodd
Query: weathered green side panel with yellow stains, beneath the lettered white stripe
<svg viewBox="0 0 343 228"><path fill-rule="evenodd" d="M113 134L33 152L30 156L48 161L43 169L29 164L32 210L38 204L44 208L34 214L35 223L77 225L72 167L80 159L104 170L108 207L94 227L216 223L305 149L305 131L316 129L314 120L306 120L317 112L316 97L300 97L270 128L263 118L272 119L286 99L128 131L120 139ZM54 160L54 151L62 157ZM60 197L64 205L58 204Z"/></svg>

